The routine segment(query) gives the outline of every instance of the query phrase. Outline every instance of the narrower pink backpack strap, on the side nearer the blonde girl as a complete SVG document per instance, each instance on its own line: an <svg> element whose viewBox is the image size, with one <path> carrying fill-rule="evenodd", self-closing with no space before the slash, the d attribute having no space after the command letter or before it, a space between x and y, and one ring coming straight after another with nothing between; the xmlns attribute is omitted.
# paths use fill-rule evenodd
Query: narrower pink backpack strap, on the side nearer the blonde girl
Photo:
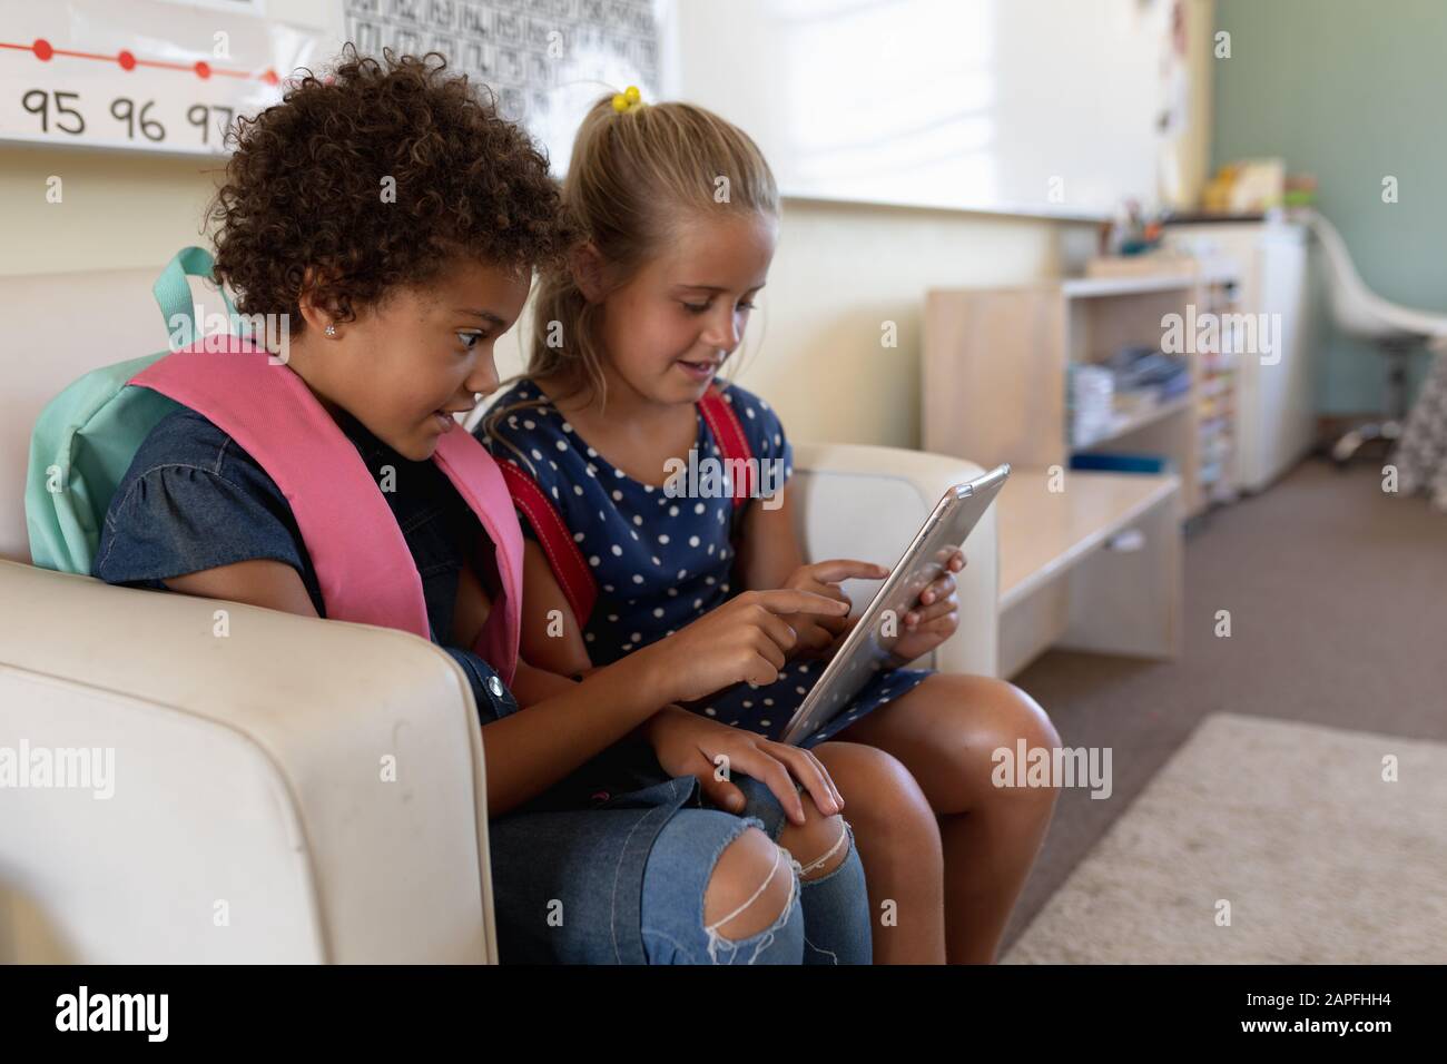
<svg viewBox="0 0 1447 1064"><path fill-rule="evenodd" d="M473 653L496 669L504 683L512 683L522 631L522 527L512 510L506 473L472 433L460 428L438 439L433 460L482 521L496 552L502 601L492 604Z"/></svg>

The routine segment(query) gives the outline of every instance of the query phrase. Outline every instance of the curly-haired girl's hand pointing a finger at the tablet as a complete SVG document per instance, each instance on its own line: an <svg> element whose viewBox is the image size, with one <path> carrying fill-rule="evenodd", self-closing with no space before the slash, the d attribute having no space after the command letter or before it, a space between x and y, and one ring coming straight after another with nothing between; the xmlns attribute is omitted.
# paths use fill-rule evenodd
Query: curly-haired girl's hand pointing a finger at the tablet
<svg viewBox="0 0 1447 1064"><path fill-rule="evenodd" d="M794 630L784 617L838 617L848 602L809 591L745 591L686 628L638 654L655 662L664 702L693 702L747 680L765 686L778 679Z"/></svg>

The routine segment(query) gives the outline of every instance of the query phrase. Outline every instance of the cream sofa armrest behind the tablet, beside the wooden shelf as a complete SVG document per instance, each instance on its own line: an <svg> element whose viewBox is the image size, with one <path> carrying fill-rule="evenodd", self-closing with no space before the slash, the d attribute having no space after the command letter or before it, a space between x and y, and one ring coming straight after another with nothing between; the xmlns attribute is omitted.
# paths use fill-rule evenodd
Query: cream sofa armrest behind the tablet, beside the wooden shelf
<svg viewBox="0 0 1447 1064"><path fill-rule="evenodd" d="M981 472L972 462L922 450L796 443L796 521L805 556L858 557L893 566L945 489ZM959 628L919 664L994 676L1000 594L994 507L965 541L965 560L956 578ZM845 591L862 602L875 586L848 580Z"/></svg>

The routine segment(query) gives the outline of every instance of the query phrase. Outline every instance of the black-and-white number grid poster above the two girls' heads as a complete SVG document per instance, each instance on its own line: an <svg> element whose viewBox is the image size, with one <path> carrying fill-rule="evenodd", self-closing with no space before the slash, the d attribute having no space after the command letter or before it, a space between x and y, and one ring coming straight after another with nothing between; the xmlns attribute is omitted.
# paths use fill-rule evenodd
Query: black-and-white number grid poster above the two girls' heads
<svg viewBox="0 0 1447 1064"><path fill-rule="evenodd" d="M601 96L660 84L661 0L341 0L341 41L363 55L440 52L496 96L556 168Z"/></svg>

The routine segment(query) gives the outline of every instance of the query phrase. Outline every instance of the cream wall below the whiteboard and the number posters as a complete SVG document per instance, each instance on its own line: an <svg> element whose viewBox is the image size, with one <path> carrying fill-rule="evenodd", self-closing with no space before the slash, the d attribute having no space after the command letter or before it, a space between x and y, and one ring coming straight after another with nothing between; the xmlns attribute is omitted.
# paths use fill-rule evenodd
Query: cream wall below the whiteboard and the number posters
<svg viewBox="0 0 1447 1064"><path fill-rule="evenodd" d="M218 161L0 146L0 275L155 266L201 242ZM45 200L49 177L62 201ZM768 288L735 379L796 439L919 446L923 294L1020 284L1059 271L1062 230L1006 219L789 201ZM82 311L82 308L81 308ZM886 321L897 347L881 346ZM501 347L521 369L518 340Z"/></svg>

